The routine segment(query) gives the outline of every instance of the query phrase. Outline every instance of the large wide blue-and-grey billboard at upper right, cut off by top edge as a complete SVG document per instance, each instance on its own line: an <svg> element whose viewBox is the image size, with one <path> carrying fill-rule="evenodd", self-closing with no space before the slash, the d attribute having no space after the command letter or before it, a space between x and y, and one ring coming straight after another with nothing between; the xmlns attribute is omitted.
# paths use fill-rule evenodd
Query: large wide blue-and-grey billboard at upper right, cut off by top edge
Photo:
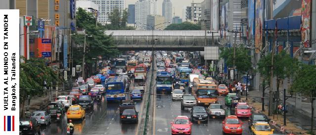
<svg viewBox="0 0 316 135"><path fill-rule="evenodd" d="M302 0L273 0L267 2L267 20L300 16Z"/></svg>

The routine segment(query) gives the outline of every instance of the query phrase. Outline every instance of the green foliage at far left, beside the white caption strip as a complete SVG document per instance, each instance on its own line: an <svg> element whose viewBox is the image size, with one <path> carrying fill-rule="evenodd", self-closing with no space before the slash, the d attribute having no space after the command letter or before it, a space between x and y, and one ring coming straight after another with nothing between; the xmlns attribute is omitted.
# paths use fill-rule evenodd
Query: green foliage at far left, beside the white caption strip
<svg viewBox="0 0 316 135"><path fill-rule="evenodd" d="M43 94L44 80L48 87L51 86L51 82L61 81L57 73L46 65L46 59L30 58L26 60L24 57L21 59L25 63L20 63L20 102L24 101L28 95Z"/></svg>

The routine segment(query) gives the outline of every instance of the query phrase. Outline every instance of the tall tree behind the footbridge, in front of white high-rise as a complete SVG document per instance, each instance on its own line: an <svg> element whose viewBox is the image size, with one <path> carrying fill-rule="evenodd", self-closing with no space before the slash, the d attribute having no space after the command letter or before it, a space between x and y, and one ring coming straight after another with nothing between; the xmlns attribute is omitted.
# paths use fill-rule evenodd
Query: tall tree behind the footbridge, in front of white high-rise
<svg viewBox="0 0 316 135"><path fill-rule="evenodd" d="M127 27L127 17L129 13L127 9L124 9L122 12L115 8L110 14L108 14L108 18L110 19L111 24L106 24L105 27L107 30L135 30L134 27Z"/></svg>

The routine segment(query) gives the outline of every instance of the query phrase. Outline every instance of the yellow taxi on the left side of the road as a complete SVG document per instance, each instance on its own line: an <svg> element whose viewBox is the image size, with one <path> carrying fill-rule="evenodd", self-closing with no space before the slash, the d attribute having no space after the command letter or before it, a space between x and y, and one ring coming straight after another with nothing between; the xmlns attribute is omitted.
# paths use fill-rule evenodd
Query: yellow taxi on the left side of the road
<svg viewBox="0 0 316 135"><path fill-rule="evenodd" d="M78 105L71 105L67 110L67 119L81 119L85 117L86 111L85 109Z"/></svg>

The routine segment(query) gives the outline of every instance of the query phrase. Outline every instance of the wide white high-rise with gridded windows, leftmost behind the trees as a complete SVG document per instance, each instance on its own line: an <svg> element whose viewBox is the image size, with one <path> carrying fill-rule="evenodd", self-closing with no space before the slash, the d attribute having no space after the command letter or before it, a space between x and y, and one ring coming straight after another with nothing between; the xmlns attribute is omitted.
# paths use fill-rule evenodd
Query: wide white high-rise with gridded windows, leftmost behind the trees
<svg viewBox="0 0 316 135"><path fill-rule="evenodd" d="M98 5L98 18L97 21L101 24L109 23L108 14L115 8L120 11L125 9L125 0L91 0Z"/></svg>

